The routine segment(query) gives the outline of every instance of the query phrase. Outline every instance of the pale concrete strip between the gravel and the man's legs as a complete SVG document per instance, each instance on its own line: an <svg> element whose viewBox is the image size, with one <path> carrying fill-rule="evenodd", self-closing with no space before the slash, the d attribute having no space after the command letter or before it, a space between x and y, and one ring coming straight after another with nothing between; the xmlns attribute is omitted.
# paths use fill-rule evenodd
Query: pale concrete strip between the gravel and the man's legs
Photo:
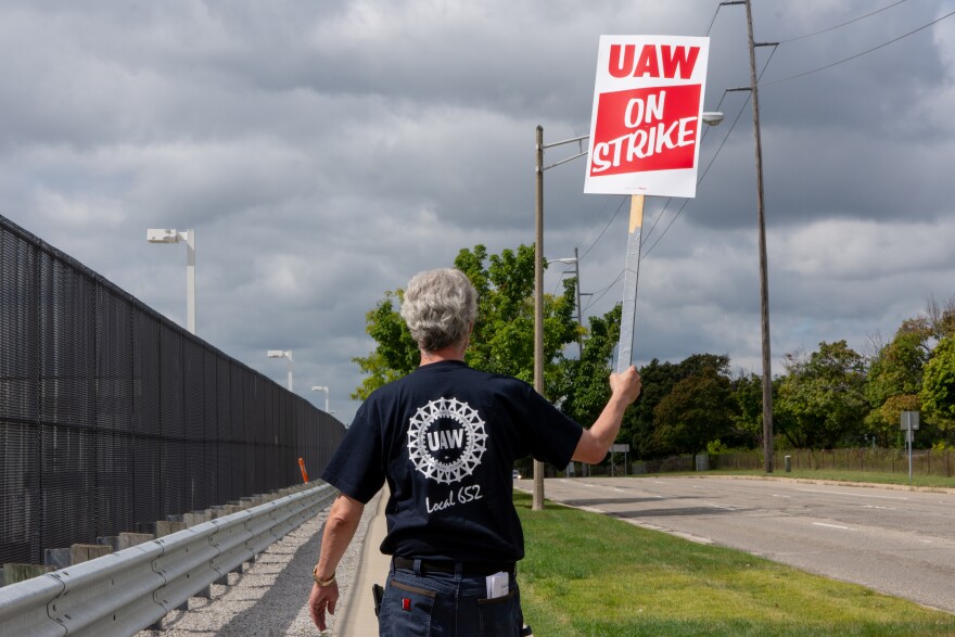
<svg viewBox="0 0 955 637"><path fill-rule="evenodd" d="M334 634L341 637L371 637L378 635L378 617L374 615L374 601L371 585L384 586L391 568L391 557L383 555L379 547L386 533L384 507L387 504L387 487L383 487L372 502L377 502L374 517L368 523L368 532L361 545L361 555L355 572L355 582L348 596L348 604L341 620L335 624Z"/></svg>

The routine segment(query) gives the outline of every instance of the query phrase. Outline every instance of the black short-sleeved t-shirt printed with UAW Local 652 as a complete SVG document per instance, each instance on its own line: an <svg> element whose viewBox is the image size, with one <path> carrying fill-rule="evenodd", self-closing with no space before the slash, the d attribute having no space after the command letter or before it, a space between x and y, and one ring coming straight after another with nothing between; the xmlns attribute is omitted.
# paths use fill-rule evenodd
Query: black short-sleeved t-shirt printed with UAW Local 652
<svg viewBox="0 0 955 637"><path fill-rule="evenodd" d="M582 432L527 383L445 360L373 392L321 477L366 504L387 480L383 553L515 561L514 459L563 468Z"/></svg>

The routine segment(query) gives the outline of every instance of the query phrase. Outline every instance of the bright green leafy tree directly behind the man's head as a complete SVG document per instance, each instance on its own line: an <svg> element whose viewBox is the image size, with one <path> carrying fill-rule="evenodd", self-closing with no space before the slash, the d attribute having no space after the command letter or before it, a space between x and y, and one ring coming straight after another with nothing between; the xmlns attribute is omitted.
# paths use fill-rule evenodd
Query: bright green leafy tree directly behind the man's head
<svg viewBox="0 0 955 637"><path fill-rule="evenodd" d="M483 245L462 249L454 267L468 276L478 290L478 322L466 361L475 369L505 373L529 383L534 380L534 247L521 245L488 255ZM353 359L368 373L352 395L364 399L372 391L411 372L419 364L418 346L398 313L403 290L385 297L366 315L366 332L374 351ZM544 361L546 386L562 373L565 345L577 337L574 321L574 282L564 281L560 296L545 295ZM550 399L550 394L545 392Z"/></svg>

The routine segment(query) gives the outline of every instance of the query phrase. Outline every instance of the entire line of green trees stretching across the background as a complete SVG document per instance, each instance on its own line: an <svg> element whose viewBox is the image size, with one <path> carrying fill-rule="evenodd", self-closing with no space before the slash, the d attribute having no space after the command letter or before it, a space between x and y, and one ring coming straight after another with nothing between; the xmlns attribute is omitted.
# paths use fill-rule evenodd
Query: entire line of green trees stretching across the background
<svg viewBox="0 0 955 637"><path fill-rule="evenodd" d="M454 267L480 295L466 361L533 383L533 246L488 254L479 244L462 249ZM609 397L621 308L578 326L575 285L568 278L560 293L544 295L544 393L589 424ZM353 398L364 399L418 366L418 348L398 314L403 293L385 292L366 316L375 347L353 359L366 374ZM578 357L565 355L572 344L581 346ZM916 446L955 444L955 296L944 304L929 298L925 313L903 321L891 341L874 336L870 345L865 355L845 341L784 355L785 373L773 379L776 448L902 446L900 419L906 410L921 413ZM692 354L679 362L654 358L639 371L642 393L617 436L634 457L762 447L762 379L734 371L728 355Z"/></svg>

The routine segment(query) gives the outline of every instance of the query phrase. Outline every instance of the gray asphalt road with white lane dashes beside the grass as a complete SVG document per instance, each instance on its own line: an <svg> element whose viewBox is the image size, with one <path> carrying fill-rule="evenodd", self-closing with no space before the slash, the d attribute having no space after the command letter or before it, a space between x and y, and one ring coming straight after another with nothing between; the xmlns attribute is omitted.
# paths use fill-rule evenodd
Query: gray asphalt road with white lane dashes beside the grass
<svg viewBox="0 0 955 637"><path fill-rule="evenodd" d="M547 480L545 497L955 612L952 493L791 480L576 477Z"/></svg>

